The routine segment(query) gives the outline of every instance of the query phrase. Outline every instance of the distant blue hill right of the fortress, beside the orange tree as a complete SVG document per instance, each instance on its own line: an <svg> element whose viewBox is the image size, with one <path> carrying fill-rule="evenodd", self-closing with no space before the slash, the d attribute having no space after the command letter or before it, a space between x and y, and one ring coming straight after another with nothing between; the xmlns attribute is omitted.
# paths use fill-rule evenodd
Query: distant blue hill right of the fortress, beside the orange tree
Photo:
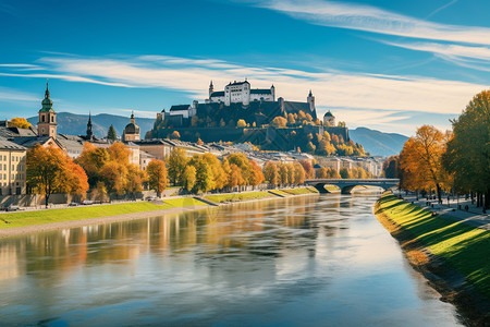
<svg viewBox="0 0 490 327"><path fill-rule="evenodd" d="M407 136L396 133L383 133L366 128L357 128L348 131L348 136L364 146L366 153L371 156L393 156L400 154Z"/></svg>

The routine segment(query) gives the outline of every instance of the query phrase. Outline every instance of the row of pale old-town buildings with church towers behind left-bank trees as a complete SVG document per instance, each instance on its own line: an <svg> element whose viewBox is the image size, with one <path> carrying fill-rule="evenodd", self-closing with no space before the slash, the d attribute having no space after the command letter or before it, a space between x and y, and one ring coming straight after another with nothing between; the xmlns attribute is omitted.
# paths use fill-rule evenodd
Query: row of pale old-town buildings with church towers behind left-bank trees
<svg viewBox="0 0 490 327"><path fill-rule="evenodd" d="M232 85L233 86L233 85ZM272 88L273 89L273 88ZM212 95L212 89L210 89ZM273 95L273 92L272 92ZM210 97L212 99L212 97ZM8 122L0 122L0 195L25 194L26 192L26 153L29 148L41 146L59 147L72 158L82 154L84 145L90 143L97 147L109 147L112 141L94 136L91 118L87 122L86 135L68 135L57 132L57 112L50 98L47 85L42 107L38 112L37 126L28 129L9 126ZM138 165L145 170L152 159L164 160L172 149L183 148L187 156L211 153L219 158L230 154L245 154L259 166L267 161L293 162L295 160L313 160L314 157L296 152L256 152L250 144L226 145L221 143L197 144L169 138L142 140L140 128L136 124L134 114L125 126L122 142L131 152L130 162ZM373 158L317 158L322 167L340 169L342 167L363 167L373 175L381 172L380 160Z"/></svg>

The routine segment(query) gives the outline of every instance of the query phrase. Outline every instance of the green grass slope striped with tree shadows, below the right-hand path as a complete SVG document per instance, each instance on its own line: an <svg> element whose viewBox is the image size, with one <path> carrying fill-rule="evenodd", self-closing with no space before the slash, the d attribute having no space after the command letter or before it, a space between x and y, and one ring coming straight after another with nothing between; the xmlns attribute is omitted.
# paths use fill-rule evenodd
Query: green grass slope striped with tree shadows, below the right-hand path
<svg viewBox="0 0 490 327"><path fill-rule="evenodd" d="M432 217L429 210L399 199L391 193L381 196L379 213L402 226L490 299L490 231L454 222L443 216Z"/></svg>

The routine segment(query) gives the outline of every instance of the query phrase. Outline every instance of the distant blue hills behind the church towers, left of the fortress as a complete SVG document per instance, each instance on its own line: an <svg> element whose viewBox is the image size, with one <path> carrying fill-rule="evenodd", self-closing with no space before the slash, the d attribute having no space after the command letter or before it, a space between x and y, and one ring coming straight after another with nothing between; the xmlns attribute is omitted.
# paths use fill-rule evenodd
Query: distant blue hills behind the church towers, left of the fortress
<svg viewBox="0 0 490 327"><path fill-rule="evenodd" d="M38 117L27 119L33 125L37 125ZM87 132L88 114L75 114L70 112L59 112L57 114L58 133L70 135L85 135ZM142 137L145 137L147 131L154 128L155 119L136 117L136 124L142 129ZM91 125L95 136L107 136L107 131L111 124L114 125L118 135L121 136L126 124L130 123L127 117L100 113L91 116Z"/></svg>

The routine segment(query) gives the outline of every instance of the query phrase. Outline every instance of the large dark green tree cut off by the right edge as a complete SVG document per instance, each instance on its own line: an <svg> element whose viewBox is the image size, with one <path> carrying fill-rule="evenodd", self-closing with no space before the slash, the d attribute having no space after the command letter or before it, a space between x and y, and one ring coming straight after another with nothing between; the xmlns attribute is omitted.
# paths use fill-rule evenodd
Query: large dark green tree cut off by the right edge
<svg viewBox="0 0 490 327"><path fill-rule="evenodd" d="M452 124L444 167L457 190L477 193L477 205L485 194L483 205L490 208L490 90L477 94Z"/></svg>

